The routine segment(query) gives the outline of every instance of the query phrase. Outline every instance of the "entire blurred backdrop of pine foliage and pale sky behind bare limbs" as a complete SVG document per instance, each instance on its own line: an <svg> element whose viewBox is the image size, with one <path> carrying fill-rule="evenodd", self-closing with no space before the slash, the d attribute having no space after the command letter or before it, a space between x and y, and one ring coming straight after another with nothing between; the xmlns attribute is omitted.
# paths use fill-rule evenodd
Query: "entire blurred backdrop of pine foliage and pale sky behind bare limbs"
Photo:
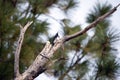
<svg viewBox="0 0 120 80"><path fill-rule="evenodd" d="M56 33L60 37L84 29L120 0L0 0L0 80L13 80L19 25L28 21L20 54L24 72ZM120 8L95 28L64 44L35 80L119 80ZM52 64L52 65L49 65Z"/></svg>

